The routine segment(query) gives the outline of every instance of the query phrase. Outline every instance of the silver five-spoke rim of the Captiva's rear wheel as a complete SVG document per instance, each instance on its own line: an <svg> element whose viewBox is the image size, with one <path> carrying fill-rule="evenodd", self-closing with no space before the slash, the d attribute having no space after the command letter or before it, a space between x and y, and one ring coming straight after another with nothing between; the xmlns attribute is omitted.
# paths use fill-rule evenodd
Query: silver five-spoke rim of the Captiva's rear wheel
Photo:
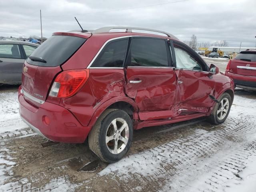
<svg viewBox="0 0 256 192"><path fill-rule="evenodd" d="M110 153L119 154L124 150L129 139L129 127L122 118L116 118L109 124L106 132L106 145Z"/></svg>

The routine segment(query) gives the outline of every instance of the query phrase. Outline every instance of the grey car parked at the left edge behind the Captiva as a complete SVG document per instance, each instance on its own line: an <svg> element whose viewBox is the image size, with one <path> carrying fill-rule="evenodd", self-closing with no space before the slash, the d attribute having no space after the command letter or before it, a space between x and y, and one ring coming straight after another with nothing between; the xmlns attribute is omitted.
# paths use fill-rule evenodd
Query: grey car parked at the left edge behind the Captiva
<svg viewBox="0 0 256 192"><path fill-rule="evenodd" d="M0 40L0 84L21 84L22 66L38 44Z"/></svg>

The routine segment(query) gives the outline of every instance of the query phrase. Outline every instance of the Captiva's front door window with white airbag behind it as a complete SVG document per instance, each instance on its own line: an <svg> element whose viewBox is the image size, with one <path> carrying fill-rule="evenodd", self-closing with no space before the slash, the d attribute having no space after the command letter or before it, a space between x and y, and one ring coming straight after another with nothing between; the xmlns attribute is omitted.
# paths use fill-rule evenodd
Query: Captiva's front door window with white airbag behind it
<svg viewBox="0 0 256 192"><path fill-rule="evenodd" d="M176 68L202 71L202 66L186 50L174 46L176 56Z"/></svg>

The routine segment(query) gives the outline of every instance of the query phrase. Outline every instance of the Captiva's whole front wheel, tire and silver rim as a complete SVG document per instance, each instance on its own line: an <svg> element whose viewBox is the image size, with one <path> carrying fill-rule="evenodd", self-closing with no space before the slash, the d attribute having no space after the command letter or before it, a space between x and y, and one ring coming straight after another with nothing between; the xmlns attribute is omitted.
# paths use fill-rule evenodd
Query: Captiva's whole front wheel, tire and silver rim
<svg viewBox="0 0 256 192"><path fill-rule="evenodd" d="M213 124L223 123L228 117L232 105L232 99L228 93L222 94L218 101L219 103L215 104L212 113L207 117L207 120Z"/></svg>

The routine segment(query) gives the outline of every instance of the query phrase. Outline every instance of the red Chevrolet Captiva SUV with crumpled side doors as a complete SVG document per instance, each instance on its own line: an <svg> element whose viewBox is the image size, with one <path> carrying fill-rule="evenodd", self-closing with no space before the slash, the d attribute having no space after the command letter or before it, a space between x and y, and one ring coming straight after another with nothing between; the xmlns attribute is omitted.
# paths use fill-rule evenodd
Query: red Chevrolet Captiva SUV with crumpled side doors
<svg viewBox="0 0 256 192"><path fill-rule="evenodd" d="M224 122L234 83L171 34L107 27L54 33L25 61L18 97L22 120L38 134L88 137L98 157L115 162L133 130L204 116Z"/></svg>

